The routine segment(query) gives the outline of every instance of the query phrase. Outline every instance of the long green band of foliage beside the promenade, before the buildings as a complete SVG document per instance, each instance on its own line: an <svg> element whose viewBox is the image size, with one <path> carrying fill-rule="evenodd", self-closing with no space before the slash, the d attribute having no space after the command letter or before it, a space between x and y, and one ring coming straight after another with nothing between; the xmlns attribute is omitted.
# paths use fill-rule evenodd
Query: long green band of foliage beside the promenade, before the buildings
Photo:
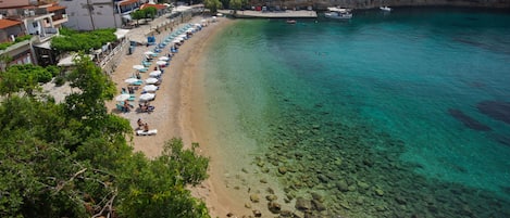
<svg viewBox="0 0 510 218"><path fill-rule="evenodd" d="M90 51L116 40L115 29L98 29L87 33L62 28L61 35L51 39L51 48L59 51Z"/></svg>

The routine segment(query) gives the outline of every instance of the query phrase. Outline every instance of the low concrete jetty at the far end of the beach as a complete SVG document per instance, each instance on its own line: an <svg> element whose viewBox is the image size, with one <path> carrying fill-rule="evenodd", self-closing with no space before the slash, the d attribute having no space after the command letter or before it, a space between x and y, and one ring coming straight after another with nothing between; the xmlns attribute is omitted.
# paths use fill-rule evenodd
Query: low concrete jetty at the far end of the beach
<svg viewBox="0 0 510 218"><path fill-rule="evenodd" d="M228 14L237 18L316 18L318 13L310 10L285 10L285 11L256 11L244 10L234 14L232 10L219 10L220 13Z"/></svg>

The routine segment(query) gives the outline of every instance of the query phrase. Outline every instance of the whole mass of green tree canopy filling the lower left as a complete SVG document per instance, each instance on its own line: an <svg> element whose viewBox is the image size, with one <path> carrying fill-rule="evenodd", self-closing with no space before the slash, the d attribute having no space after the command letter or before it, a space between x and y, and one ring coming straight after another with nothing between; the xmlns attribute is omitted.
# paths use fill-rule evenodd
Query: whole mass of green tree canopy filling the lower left
<svg viewBox="0 0 510 218"><path fill-rule="evenodd" d="M82 91L64 103L12 93L0 104L0 217L209 217L185 189L207 178L198 144L134 153L128 120L104 107L113 84L85 55L75 62Z"/></svg>

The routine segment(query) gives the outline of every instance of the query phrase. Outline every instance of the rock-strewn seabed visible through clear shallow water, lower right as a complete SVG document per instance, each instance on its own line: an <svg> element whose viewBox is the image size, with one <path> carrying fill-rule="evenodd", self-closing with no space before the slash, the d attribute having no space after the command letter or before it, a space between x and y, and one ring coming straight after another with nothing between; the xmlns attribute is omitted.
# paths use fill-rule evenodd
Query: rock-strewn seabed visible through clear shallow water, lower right
<svg viewBox="0 0 510 218"><path fill-rule="evenodd" d="M244 217L510 217L510 202L495 193L414 172L421 166L399 159L402 141L346 125L324 104L307 108L279 98L286 113L272 118L273 137L261 142L268 152L254 156L252 175L241 174L263 184L276 178L283 190L249 193L245 207L271 214Z"/></svg>

